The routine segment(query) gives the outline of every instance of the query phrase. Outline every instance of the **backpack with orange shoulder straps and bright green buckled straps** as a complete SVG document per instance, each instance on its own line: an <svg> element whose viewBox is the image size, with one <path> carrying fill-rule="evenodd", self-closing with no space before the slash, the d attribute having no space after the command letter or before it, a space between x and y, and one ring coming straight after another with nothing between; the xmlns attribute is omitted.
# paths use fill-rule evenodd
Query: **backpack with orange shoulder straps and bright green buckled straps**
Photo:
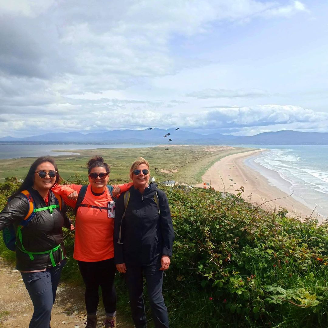
<svg viewBox="0 0 328 328"><path fill-rule="evenodd" d="M24 252L24 253L29 254L30 252L27 252L25 250L23 244L22 244L22 232L21 232L21 230L29 224L29 222L34 217L36 212L49 210L50 213L52 213L54 208L59 208L59 210L61 210L61 208L62 208L62 199L58 194L53 193L56 197L56 204L55 205L36 208L33 197L31 196L31 194L27 190L21 191L21 194L23 194L29 202L28 212L25 215L24 219L18 224L17 230L15 229L13 224L10 224L8 227L3 229L2 237L3 237L3 240L4 240L4 243L5 243L6 247L10 251L13 251L13 252L16 250L17 238L18 238L20 243L21 243L21 246L22 246L21 251ZM9 199L9 201L10 201L10 199ZM32 254L38 254L38 253L30 253L30 254L29 255L30 255L30 258L31 258L31 257L33 257ZM34 259L34 257L33 257L33 259Z"/></svg>

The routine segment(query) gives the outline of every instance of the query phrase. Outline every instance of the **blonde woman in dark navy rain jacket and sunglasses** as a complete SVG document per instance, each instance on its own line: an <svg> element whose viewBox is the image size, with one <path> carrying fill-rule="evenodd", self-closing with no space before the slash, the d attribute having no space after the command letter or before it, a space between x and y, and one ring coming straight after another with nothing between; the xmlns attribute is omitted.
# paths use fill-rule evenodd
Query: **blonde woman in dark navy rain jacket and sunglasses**
<svg viewBox="0 0 328 328"><path fill-rule="evenodd" d="M156 328L169 327L162 295L163 272L170 266L174 240L165 193L149 184L149 163L139 157L131 166L131 189L117 201L114 221L114 260L125 274L136 328L145 328L143 277Z"/></svg>

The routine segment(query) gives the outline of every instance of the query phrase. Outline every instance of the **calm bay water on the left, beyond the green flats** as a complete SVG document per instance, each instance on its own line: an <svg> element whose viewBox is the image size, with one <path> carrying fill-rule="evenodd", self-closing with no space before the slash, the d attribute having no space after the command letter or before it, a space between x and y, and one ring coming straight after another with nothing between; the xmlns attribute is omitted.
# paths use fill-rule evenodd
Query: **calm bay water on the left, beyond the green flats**
<svg viewBox="0 0 328 328"><path fill-rule="evenodd" d="M147 148L154 145L91 145L91 144L13 144L0 143L0 159L19 158L19 157L39 157L39 156L59 156L77 155L77 152L66 152L66 150L76 149L96 149L96 148ZM63 150L65 152L53 152Z"/></svg>

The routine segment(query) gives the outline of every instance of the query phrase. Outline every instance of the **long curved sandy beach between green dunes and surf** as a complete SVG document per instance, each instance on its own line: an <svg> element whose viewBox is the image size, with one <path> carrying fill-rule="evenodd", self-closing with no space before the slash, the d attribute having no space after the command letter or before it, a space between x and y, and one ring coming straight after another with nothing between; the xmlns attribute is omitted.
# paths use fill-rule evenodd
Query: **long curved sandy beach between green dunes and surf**
<svg viewBox="0 0 328 328"><path fill-rule="evenodd" d="M263 204L263 209L274 211L279 210L279 206L288 210L288 216L310 216L313 209L288 196L277 187L269 185L268 180L260 173L244 164L245 158L263 152L254 150L246 153L233 154L223 157L216 162L203 176L203 182L211 182L212 187L217 191L230 192L236 194L236 189L244 187L243 197L253 204ZM202 187L201 184L197 187ZM280 199L277 199L280 198Z"/></svg>

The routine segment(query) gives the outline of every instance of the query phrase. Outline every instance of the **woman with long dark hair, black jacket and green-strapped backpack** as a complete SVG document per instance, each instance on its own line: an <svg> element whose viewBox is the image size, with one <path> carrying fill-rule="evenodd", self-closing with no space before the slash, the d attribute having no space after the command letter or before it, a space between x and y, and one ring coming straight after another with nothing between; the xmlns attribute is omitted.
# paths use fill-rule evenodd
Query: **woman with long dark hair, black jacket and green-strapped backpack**
<svg viewBox="0 0 328 328"><path fill-rule="evenodd" d="M51 191L59 181L53 158L39 157L0 213L0 231L11 227L17 232L16 269L34 306L30 328L50 327L52 304L65 265L62 228L74 229L61 197ZM66 190L67 194L72 192Z"/></svg>

